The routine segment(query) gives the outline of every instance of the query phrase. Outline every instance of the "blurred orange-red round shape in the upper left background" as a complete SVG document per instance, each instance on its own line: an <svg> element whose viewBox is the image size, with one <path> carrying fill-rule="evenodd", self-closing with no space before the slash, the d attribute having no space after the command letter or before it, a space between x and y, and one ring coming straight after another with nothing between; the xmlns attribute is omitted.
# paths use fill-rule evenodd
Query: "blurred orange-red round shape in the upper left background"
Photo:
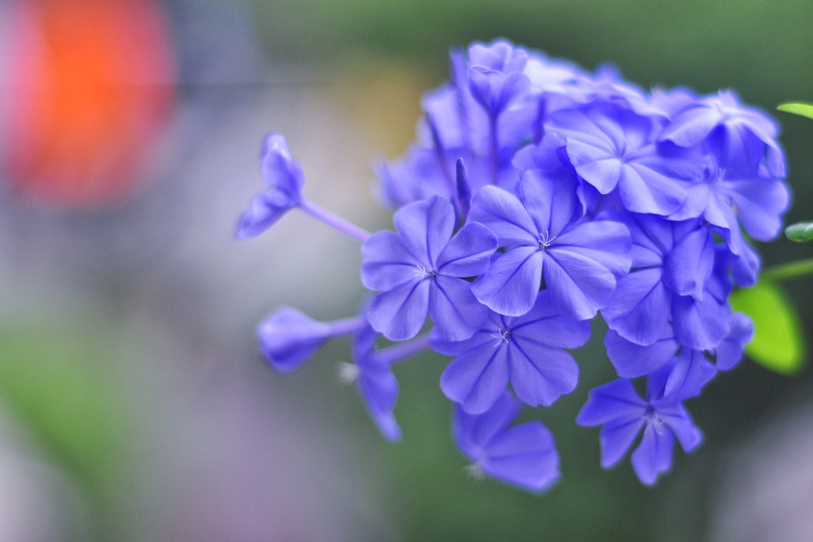
<svg viewBox="0 0 813 542"><path fill-rule="evenodd" d="M15 192L59 206L120 202L172 113L163 13L151 0L41 0L7 15L0 129Z"/></svg>

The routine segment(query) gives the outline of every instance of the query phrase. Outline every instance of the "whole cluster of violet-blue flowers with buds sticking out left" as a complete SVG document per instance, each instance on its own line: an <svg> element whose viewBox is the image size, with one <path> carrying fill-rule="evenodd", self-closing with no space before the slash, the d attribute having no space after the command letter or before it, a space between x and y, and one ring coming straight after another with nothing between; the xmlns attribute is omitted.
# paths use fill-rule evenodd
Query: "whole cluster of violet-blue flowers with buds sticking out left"
<svg viewBox="0 0 813 542"><path fill-rule="evenodd" d="M393 364L428 348L450 356L440 386L472 471L541 491L559 478L553 436L511 423L576 388L568 350L600 312L619 379L593 389L576 422L602 425L605 467L642 431L632 463L654 483L675 437L687 452L702 440L683 402L737 365L753 334L727 300L759 274L749 238L774 238L789 205L776 124L731 92L647 93L611 67L589 73L506 41L453 51L451 64L424 96L415 144L378 170L394 232L316 206L284 138L267 138L268 188L238 237L302 209L363 242L361 280L376 295L332 323L274 311L263 354L288 373L354 335L341 375L389 440L401 436Z"/></svg>

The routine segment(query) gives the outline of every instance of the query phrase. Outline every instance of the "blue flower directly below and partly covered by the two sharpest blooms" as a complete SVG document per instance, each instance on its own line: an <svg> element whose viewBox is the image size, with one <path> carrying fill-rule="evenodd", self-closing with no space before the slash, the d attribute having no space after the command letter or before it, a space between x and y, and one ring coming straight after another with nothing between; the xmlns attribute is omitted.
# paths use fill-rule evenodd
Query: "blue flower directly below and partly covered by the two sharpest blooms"
<svg viewBox="0 0 813 542"><path fill-rule="evenodd" d="M587 322L563 317L546 290L533 309L520 317L493 311L471 339L459 342L432 337L437 352L456 356L441 375L441 389L463 410L480 414L491 408L508 382L531 406L553 404L576 388L579 367L565 348L589 339Z"/></svg>

